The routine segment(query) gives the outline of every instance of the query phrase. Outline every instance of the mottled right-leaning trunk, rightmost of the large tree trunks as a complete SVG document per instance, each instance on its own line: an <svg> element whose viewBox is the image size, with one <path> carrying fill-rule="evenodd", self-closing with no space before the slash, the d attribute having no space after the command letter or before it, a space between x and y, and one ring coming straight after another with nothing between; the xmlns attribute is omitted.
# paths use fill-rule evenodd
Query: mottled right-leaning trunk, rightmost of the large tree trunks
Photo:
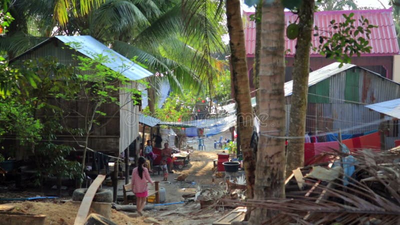
<svg viewBox="0 0 400 225"><path fill-rule="evenodd" d="M290 100L289 140L286 154L286 176L304 166L305 113L307 111L309 43L314 15L314 0L303 0L298 13L298 37L293 66L293 93Z"/></svg>

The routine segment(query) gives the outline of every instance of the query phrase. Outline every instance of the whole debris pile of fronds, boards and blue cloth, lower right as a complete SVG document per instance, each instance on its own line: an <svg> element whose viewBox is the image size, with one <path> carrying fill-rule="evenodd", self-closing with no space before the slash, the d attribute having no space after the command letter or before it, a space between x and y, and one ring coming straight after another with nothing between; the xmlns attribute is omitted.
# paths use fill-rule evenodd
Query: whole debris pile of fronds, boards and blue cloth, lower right
<svg viewBox="0 0 400 225"><path fill-rule="evenodd" d="M329 152L321 158L325 162L293 170L285 180L284 199L243 202L225 198L225 205L246 203L279 212L264 224L398 224L398 150L362 149L350 153L344 146L343 151ZM237 191L235 183L227 181L227 186L230 193ZM237 214L238 208L232 213ZM213 224L223 224L219 221L225 217Z"/></svg>

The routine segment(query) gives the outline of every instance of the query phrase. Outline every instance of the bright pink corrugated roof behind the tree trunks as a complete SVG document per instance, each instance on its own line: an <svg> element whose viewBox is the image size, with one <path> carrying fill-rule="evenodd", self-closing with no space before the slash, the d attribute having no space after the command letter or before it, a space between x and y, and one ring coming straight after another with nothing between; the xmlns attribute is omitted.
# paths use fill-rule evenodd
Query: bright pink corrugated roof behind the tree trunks
<svg viewBox="0 0 400 225"><path fill-rule="evenodd" d="M396 31L394 29L393 18L391 16L391 8L389 9L369 9L369 10L342 10L342 11L317 11L314 13L314 25L318 26L319 30L331 30L329 24L331 20L336 22L344 21L342 14L354 13L353 18L355 26L360 25L358 19L363 15L369 20L369 24L377 25L378 27L371 29L369 45L372 47L370 53L363 53L361 55L393 55L399 53ZM246 54L247 56L254 56L255 48L255 22L249 21L248 16L254 12L244 12L247 20L244 22L244 35L246 41ZM290 11L285 11L285 26L296 19ZM314 33L316 31L313 31ZM319 31L321 32L321 31ZM321 33L320 33L321 34ZM364 35L364 34L361 34ZM366 36L364 36L366 38ZM287 56L294 56L296 40L290 40L286 37L285 49L290 49ZM312 46L319 45L319 37L312 37ZM321 56L315 51L312 51L310 56Z"/></svg>

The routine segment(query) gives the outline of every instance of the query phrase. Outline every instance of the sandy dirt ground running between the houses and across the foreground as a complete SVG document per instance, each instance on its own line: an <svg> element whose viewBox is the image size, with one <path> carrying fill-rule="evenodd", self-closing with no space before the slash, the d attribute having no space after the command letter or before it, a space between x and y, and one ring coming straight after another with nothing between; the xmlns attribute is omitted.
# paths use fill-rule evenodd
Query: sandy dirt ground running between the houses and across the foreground
<svg viewBox="0 0 400 225"><path fill-rule="evenodd" d="M229 137L225 132L221 135ZM195 138L188 138L188 145L192 146L193 152L190 153L190 163L181 170L175 170L169 174L167 181L162 181L162 174L151 175L153 180L160 180L160 187L165 188L166 205L154 206L154 209L145 211L143 216L137 216L135 213L127 215L122 211L111 210L111 220L117 224L212 224L217 218L228 213L229 208L203 208L200 209L199 202L189 201L184 203L175 203L183 201L183 194L195 193L197 186L199 188L223 188L223 178L213 178L213 159L216 153L222 152L222 149L214 149L213 142L220 135L205 138L205 150L197 150ZM192 140L192 141L190 141ZM185 181L176 181L179 174L187 173ZM104 188L104 185L103 185ZM118 186L118 189L122 187ZM149 187L152 188L152 187ZM121 192L118 190L118 193ZM18 197L36 196L40 193L23 192ZM1 196L7 197L7 196ZM9 197L9 196L8 196ZM69 197L70 198L70 197ZM63 200L68 199L64 197ZM12 211L24 212L30 214L46 215L45 224L73 224L79 205L70 201L41 200L41 201L11 201L2 203L12 203L15 208ZM168 204L172 203L172 204ZM151 203L148 203L151 205ZM152 217L155 220L149 220Z"/></svg>

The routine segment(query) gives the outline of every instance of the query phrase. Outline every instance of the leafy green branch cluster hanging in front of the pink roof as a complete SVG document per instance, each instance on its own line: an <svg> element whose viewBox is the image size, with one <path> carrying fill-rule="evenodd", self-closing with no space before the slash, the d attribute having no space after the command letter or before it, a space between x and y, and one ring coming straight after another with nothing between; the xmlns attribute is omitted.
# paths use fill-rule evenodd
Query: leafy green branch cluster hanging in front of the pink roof
<svg viewBox="0 0 400 225"><path fill-rule="evenodd" d="M360 25L355 26L353 15L352 12L349 15L343 14L344 22L330 21L329 27L333 29L332 32L329 32L330 35L314 34L315 36L319 35L320 45L317 50L320 54L340 62L339 67L343 63L350 63L351 56L354 54L359 56L362 52L370 52L372 48L368 46L368 39L371 28L376 26L369 24L368 19L363 16L358 19ZM318 27L315 27L315 29L318 29ZM363 34L366 38L363 37Z"/></svg>

